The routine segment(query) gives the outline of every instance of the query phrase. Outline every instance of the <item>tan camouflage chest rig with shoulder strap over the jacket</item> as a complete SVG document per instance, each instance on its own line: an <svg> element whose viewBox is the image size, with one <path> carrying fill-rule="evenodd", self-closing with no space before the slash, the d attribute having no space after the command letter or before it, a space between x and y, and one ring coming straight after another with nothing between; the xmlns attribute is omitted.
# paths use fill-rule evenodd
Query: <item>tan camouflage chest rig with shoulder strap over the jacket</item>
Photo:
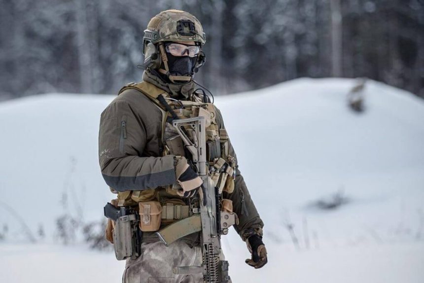
<svg viewBox="0 0 424 283"><path fill-rule="evenodd" d="M142 95L146 96L151 102L153 102L153 104L161 111L162 146L160 150L162 156L173 154L176 156L184 156L187 160L190 160L189 153L185 150L182 139L177 134L176 129L172 126L172 120L175 117L172 116L171 111L174 112L179 119L198 116L205 117L207 141L206 150L210 177L212 178L219 193L222 191L232 193L234 191L236 161L235 158L228 153L228 135L225 129L219 129L218 123L220 121L217 121L219 118L216 113L216 108L212 103L203 102L202 98L196 94L192 96L191 101L176 100L171 98L164 90L148 82L130 83L124 86L119 93L122 93L127 89L138 90ZM190 131L190 129L187 129L187 131ZM163 206L167 206L172 203L175 211L175 206L187 204L185 203L187 200L182 199L177 195L177 188L179 187L176 183L167 187L158 187L143 191L119 192L119 205L136 205L139 202L155 200L160 202ZM232 208L228 209L232 210ZM183 210L184 212L182 213L186 215L185 207L183 207ZM167 207L162 209L162 218L164 218L164 211L167 211ZM178 213L180 214L180 212Z"/></svg>

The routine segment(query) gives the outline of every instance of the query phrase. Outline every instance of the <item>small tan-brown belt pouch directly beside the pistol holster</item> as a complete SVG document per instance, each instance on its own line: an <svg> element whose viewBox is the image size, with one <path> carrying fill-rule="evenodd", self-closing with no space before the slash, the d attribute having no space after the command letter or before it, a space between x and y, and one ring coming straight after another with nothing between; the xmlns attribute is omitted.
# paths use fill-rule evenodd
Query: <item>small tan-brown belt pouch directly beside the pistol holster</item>
<svg viewBox="0 0 424 283"><path fill-rule="evenodd" d="M140 202L140 229L143 232L159 230L161 223L162 206L159 202Z"/></svg>

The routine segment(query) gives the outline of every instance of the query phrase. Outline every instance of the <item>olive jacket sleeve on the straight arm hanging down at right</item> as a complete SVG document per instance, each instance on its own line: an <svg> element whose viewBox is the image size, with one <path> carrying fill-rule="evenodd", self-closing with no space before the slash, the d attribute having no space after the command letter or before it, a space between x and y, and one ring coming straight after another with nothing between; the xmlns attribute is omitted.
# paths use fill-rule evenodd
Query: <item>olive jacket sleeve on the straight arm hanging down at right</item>
<svg viewBox="0 0 424 283"><path fill-rule="evenodd" d="M215 107L215 109L217 112L218 126L220 129L225 129L222 114L218 108ZM224 198L232 200L233 211L236 212L239 217L239 224L234 225L234 228L243 241L246 241L247 237L252 233L262 236L264 223L256 210L255 204L247 189L246 182L239 170L237 155L230 139L228 139L228 154L236 159L236 177L234 180L234 191L231 194L224 192Z"/></svg>

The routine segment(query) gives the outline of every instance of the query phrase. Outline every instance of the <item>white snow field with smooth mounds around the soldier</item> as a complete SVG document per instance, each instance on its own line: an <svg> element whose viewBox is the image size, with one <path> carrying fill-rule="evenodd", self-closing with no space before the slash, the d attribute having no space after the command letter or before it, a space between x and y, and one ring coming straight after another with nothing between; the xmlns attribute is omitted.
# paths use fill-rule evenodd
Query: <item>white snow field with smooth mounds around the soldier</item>
<svg viewBox="0 0 424 283"><path fill-rule="evenodd" d="M269 253L268 265L250 268L231 230L222 242L233 282L424 281L424 103L369 81L366 110L356 114L346 104L352 86L305 78L216 99ZM1 282L119 282L123 262L113 253L54 244L59 215L99 220L113 198L97 153L100 113L113 98L50 94L0 104L0 228L8 225ZM311 207L338 190L350 203ZM16 214L34 234L44 227L44 244L26 243Z"/></svg>

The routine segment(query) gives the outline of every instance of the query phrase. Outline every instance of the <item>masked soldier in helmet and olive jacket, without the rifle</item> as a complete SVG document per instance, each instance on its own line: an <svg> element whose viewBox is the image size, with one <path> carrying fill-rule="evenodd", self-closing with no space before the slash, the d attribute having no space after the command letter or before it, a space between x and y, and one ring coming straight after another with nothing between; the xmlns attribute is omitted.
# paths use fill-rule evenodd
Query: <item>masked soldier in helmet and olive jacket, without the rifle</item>
<svg viewBox="0 0 424 283"><path fill-rule="evenodd" d="M127 259L125 283L203 281L202 274L172 272L176 266L202 264L199 233L166 247L154 232L159 226L190 215L195 209L191 200L202 184L175 129L167 122L170 112L179 118L207 117L210 174L223 192L222 207L238 215L234 227L251 253L246 263L254 268L267 263L263 222L238 170L221 113L205 92L196 89L193 80L205 62L205 39L200 22L187 12L167 10L153 17L144 31L142 82L125 86L101 115L102 175L111 191L118 194L116 206L140 204L141 222L145 225L144 229L141 227L141 256ZM151 228L152 223L157 223L154 219L159 224ZM109 232L111 229L109 225Z"/></svg>

